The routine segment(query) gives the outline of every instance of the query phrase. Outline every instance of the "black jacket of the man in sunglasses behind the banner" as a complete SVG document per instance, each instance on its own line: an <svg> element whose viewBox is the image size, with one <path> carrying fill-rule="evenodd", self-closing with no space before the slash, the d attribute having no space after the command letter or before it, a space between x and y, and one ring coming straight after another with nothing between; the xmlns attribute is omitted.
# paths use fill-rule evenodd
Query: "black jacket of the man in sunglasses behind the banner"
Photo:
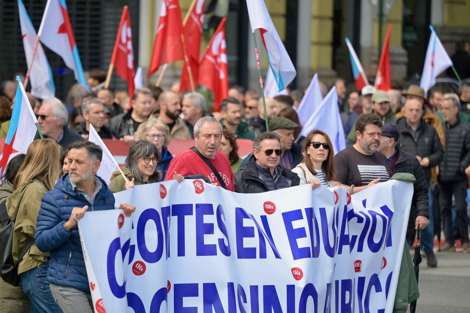
<svg viewBox="0 0 470 313"><path fill-rule="evenodd" d="M257 194L268 191L266 183L259 178L255 162L256 158L252 156L248 164L244 165L234 174L235 192L241 194ZM289 171L281 165L278 165L276 168L278 171L276 182L279 177L284 176L290 187L300 185L300 178L298 178L296 173Z"/></svg>

